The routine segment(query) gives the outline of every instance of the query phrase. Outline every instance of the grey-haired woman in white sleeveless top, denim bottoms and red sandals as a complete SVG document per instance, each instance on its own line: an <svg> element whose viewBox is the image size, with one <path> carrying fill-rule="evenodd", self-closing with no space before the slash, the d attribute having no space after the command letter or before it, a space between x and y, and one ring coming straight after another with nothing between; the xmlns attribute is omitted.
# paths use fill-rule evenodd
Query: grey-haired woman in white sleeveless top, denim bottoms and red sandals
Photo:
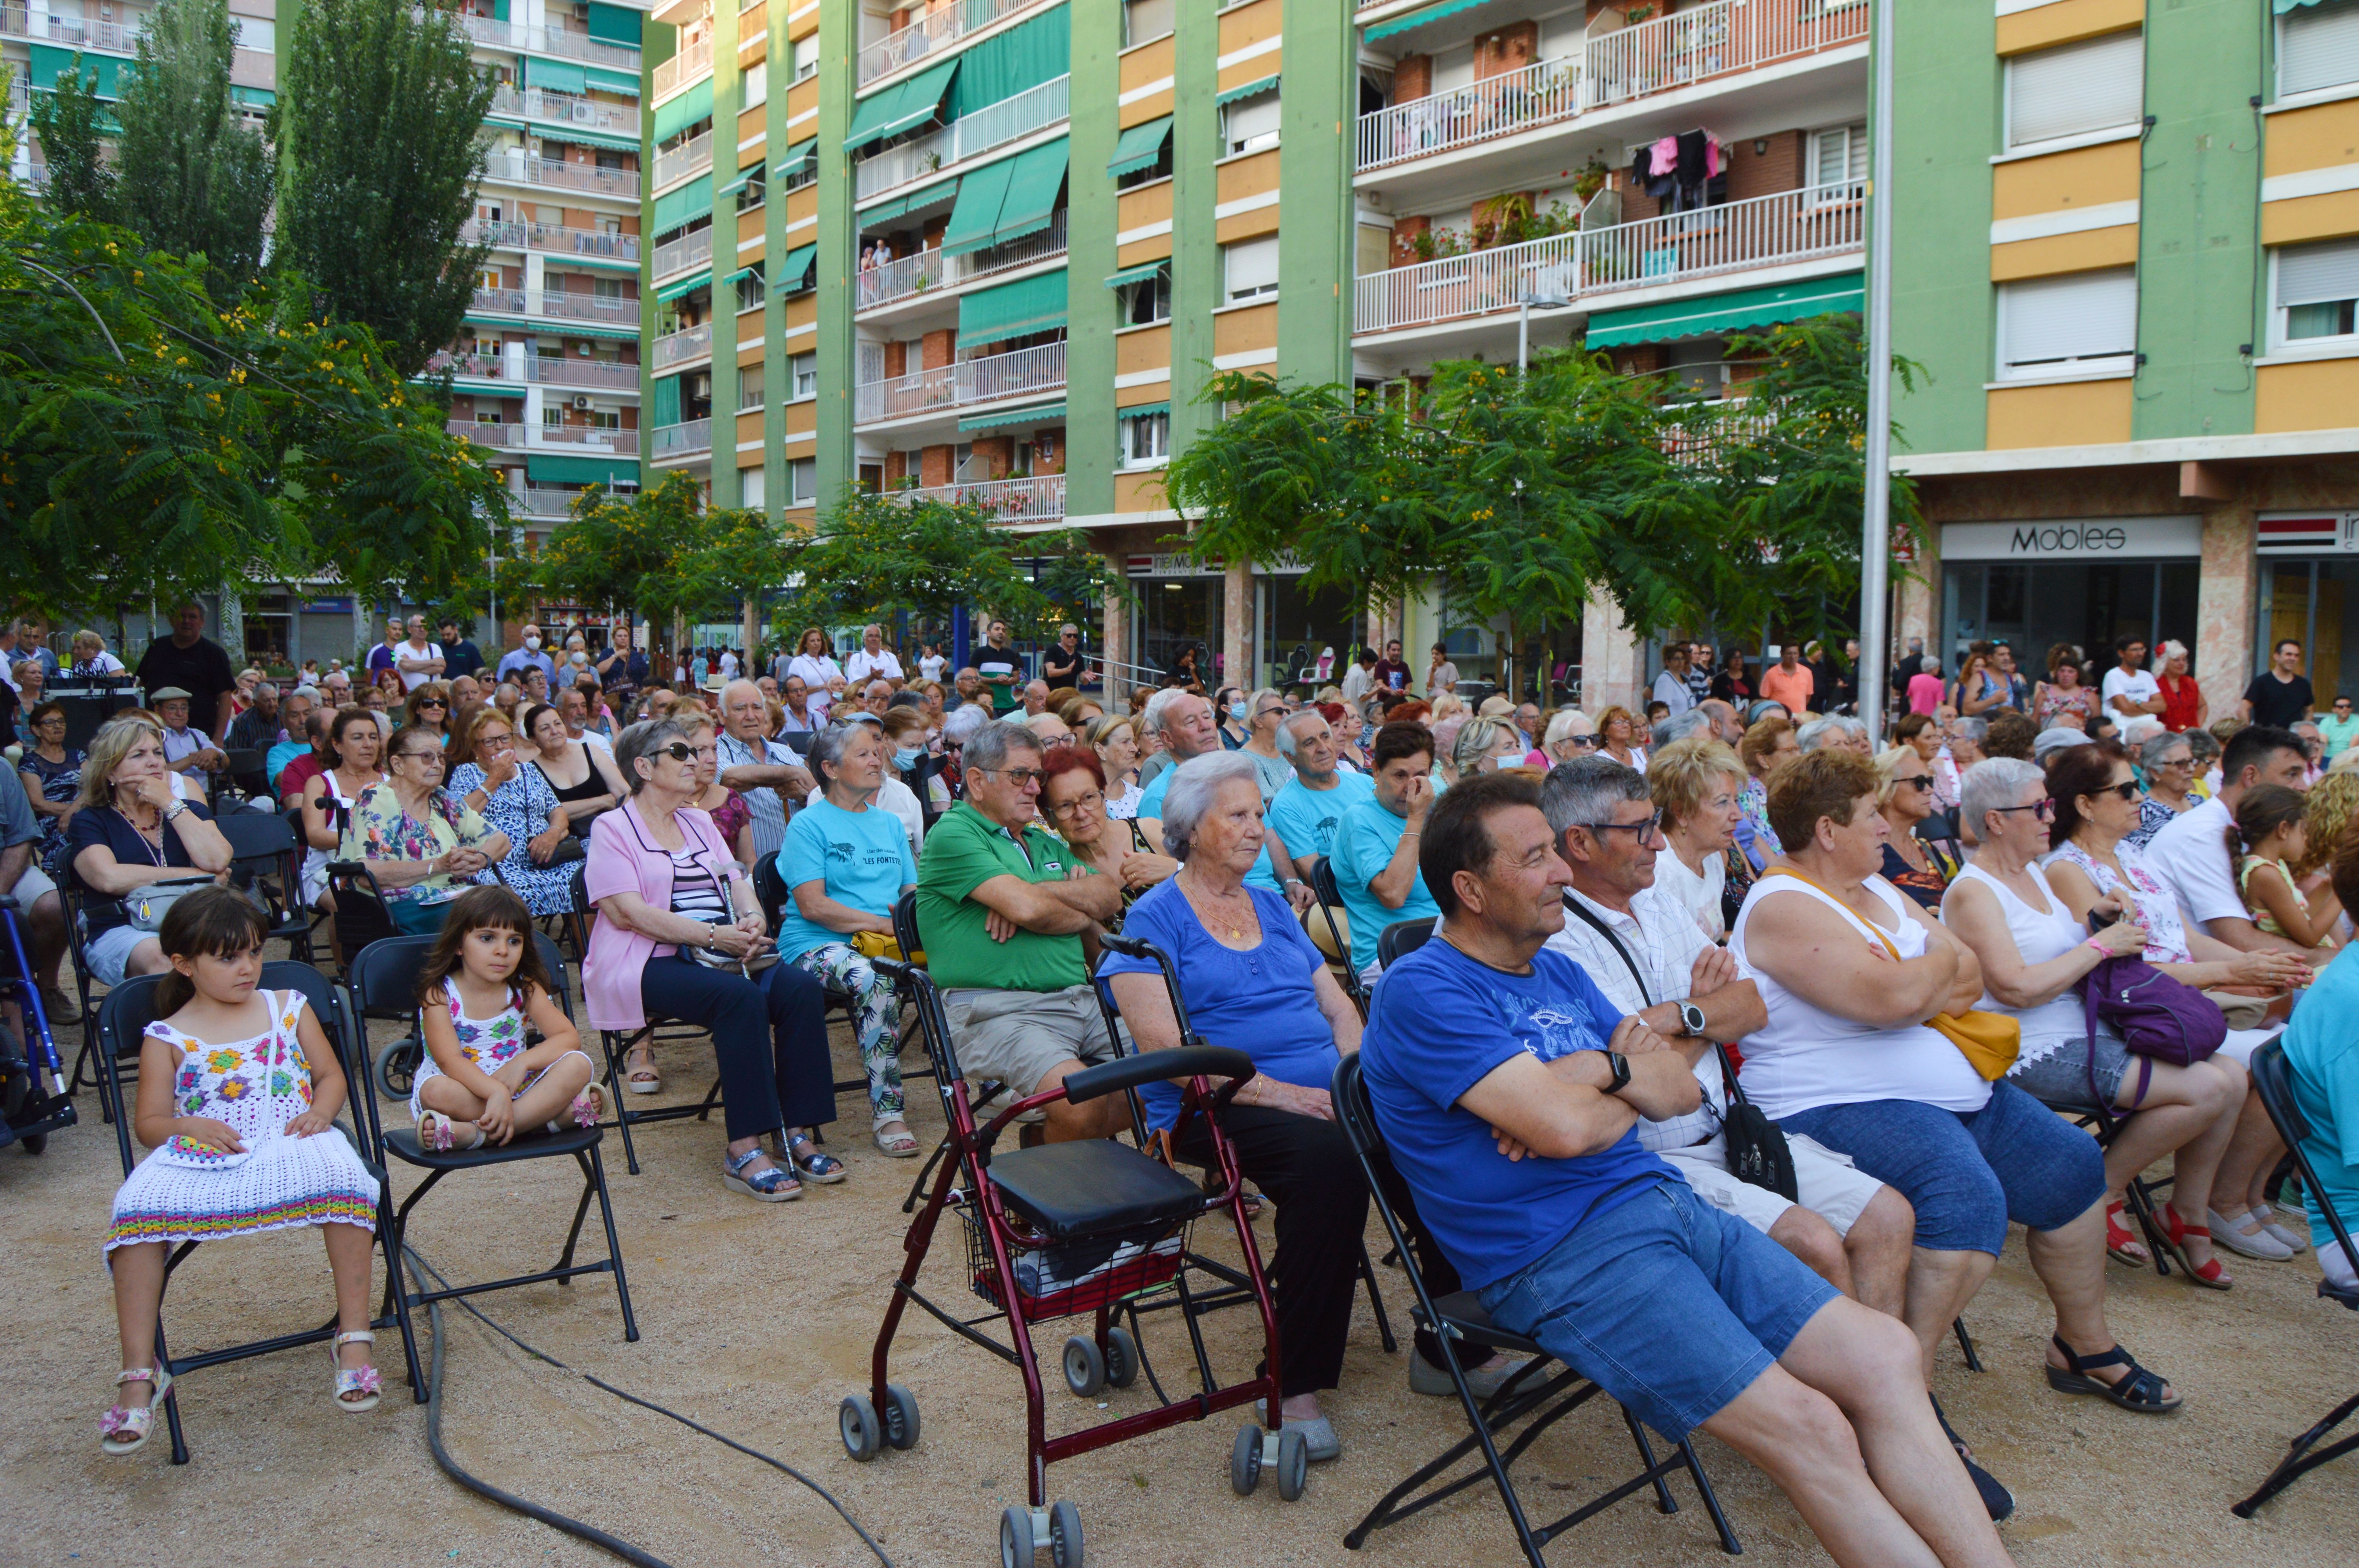
<svg viewBox="0 0 2359 1568"><path fill-rule="evenodd" d="M2057 1111L2137 1111L2104 1151L2107 1250L2133 1250L2142 1261L2144 1250L2121 1224L2121 1191L2163 1153L2175 1153L2170 1200L2156 1217L2189 1283L2227 1290L2234 1280L2213 1257L2201 1221L2210 1212L2220 1158L2236 1134L2243 1068L2225 1056L2187 1068L2151 1056L2133 1063L2121 1035L2102 1021L2090 1037L2081 981L2109 957L2142 955L2147 927L2137 924L2135 901L2121 894L2083 913L2055 896L2038 865L2055 816L2041 769L2012 757L1979 764L1965 778L1965 811L1982 849L1941 901L1941 922L1982 964L1984 1012L2022 1026L2008 1082ZM2090 936L2085 915L2104 915L2111 924ZM2199 1224L2187 1224L2177 1205Z"/></svg>

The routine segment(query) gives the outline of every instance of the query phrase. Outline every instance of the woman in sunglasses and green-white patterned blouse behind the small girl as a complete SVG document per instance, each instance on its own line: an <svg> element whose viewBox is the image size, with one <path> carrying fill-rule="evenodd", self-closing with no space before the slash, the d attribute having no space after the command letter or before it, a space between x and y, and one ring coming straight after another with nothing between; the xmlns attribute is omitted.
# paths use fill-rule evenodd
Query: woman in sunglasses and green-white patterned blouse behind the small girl
<svg viewBox="0 0 2359 1568"><path fill-rule="evenodd" d="M507 835L443 795L434 731L396 731L385 764L387 780L363 790L344 823L340 856L368 865L396 931L434 936L451 901L507 856Z"/></svg>

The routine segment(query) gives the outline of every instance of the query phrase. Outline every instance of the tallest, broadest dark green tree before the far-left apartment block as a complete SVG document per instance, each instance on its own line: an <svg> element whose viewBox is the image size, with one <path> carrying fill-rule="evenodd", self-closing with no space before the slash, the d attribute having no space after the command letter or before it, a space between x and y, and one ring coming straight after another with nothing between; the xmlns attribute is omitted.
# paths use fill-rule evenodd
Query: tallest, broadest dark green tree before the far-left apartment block
<svg viewBox="0 0 2359 1568"><path fill-rule="evenodd" d="M309 0L281 83L278 264L403 375L451 344L488 245L460 241L493 80L436 5Z"/></svg>

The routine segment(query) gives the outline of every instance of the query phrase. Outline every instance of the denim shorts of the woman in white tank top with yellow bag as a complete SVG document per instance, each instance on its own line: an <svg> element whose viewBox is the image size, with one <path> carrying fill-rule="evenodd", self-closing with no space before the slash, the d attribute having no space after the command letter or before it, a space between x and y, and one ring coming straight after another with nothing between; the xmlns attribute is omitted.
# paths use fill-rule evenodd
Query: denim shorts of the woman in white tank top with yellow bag
<svg viewBox="0 0 2359 1568"><path fill-rule="evenodd" d="M1989 1252L2008 1221L2055 1231L2104 1195L2097 1139L2000 1078L1982 1111L1960 1115L1913 1099L1816 1106L1779 1122L1852 1155L1859 1170L1916 1205L1916 1245Z"/></svg>

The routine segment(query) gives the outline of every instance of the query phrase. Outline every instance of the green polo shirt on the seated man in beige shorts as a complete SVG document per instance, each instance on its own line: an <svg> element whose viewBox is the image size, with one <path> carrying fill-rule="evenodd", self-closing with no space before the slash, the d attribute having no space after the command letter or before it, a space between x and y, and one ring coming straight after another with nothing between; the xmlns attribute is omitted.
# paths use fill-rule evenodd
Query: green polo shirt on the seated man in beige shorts
<svg viewBox="0 0 2359 1568"><path fill-rule="evenodd" d="M918 938L925 943L925 969L944 990L981 986L988 990L1064 990L1090 979L1080 957L1080 936L1040 936L1017 931L991 941L984 929L988 910L970 898L991 877L1026 882L1064 882L1073 851L1038 823L1024 828L1024 846L988 816L958 802L925 835L918 856Z"/></svg>

